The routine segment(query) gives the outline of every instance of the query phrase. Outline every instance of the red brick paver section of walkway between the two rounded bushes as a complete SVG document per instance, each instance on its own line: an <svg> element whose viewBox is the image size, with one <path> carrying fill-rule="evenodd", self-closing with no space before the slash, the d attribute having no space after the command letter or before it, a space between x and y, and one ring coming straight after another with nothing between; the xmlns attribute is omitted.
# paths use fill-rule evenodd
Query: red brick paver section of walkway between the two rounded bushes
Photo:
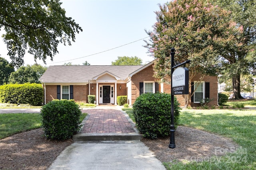
<svg viewBox="0 0 256 170"><path fill-rule="evenodd" d="M131 123L125 114L115 106L97 106L92 109L83 109L88 113L82 133L134 133Z"/></svg>

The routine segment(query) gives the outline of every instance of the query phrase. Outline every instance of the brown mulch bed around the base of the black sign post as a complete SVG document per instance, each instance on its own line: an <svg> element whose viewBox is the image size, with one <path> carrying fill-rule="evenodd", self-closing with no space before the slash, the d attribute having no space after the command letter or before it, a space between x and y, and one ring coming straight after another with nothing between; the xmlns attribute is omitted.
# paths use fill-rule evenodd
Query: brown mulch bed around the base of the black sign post
<svg viewBox="0 0 256 170"><path fill-rule="evenodd" d="M161 162L202 161L211 156L234 152L238 145L219 135L179 126L175 131L176 148L170 149L170 137L158 139L143 138L142 142L152 150Z"/></svg>

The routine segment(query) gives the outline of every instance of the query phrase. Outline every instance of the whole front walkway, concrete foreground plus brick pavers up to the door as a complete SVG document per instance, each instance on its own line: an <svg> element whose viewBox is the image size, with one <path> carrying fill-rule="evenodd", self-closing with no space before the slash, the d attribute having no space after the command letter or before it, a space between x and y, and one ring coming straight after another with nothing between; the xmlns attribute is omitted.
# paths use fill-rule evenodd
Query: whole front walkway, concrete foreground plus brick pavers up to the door
<svg viewBox="0 0 256 170"><path fill-rule="evenodd" d="M48 170L165 170L140 141L134 123L118 106L82 109L88 113L82 133Z"/></svg>

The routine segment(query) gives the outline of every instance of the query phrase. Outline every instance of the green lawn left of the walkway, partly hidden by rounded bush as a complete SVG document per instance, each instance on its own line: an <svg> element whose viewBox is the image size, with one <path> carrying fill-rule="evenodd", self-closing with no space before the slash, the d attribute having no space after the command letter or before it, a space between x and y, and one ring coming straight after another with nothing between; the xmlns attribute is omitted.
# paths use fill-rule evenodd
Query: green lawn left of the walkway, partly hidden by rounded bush
<svg viewBox="0 0 256 170"><path fill-rule="evenodd" d="M86 115L87 113L82 113L80 120L82 121ZM0 139L40 127L41 116L38 113L0 114Z"/></svg>

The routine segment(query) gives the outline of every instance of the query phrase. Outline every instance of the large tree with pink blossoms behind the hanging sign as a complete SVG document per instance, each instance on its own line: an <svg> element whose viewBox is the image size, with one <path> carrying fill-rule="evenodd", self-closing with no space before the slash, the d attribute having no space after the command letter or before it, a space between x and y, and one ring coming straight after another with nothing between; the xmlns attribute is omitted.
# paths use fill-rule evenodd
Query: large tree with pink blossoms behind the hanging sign
<svg viewBox="0 0 256 170"><path fill-rule="evenodd" d="M223 45L234 42L232 33L240 33L239 28L232 24L230 13L207 0L174 0L159 7L160 11L155 12L157 22L153 31L146 31L150 42L146 41L145 46L157 58L156 78L170 82L173 47L176 62L191 60L188 64L190 81L196 75L201 75L200 80L205 75L216 75ZM188 97L185 95L186 106Z"/></svg>

